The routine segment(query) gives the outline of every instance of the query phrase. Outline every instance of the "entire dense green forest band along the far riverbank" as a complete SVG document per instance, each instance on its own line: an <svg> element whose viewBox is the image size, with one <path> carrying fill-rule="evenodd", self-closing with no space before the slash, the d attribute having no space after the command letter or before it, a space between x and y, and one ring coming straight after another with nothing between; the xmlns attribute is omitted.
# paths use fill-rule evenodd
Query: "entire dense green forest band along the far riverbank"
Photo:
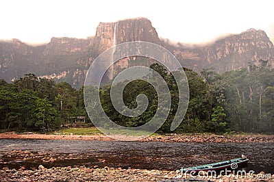
<svg viewBox="0 0 274 182"><path fill-rule="evenodd" d="M151 64L166 81L171 92L171 109L164 125L158 130L171 133L170 125L177 112L178 88L172 74L160 64ZM184 68L188 78L190 99L188 110L179 127L173 131L225 133L244 131L274 133L274 70L267 61L260 65L229 71L222 75L213 68L195 73ZM146 111L133 118L114 109L110 99L110 85L100 90L101 105L111 120L126 127L148 122L158 107L158 96L149 83L136 80L123 90L123 101L135 108L136 96L149 99ZM84 88L75 90L69 83L38 78L34 74L7 83L0 80L1 131L53 131L86 116Z"/></svg>

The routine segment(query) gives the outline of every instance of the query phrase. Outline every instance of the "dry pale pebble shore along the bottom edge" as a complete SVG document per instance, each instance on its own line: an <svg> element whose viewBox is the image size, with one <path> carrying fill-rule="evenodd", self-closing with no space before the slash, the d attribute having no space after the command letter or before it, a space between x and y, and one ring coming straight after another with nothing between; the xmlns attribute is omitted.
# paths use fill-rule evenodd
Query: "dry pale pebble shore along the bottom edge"
<svg viewBox="0 0 274 182"><path fill-rule="evenodd" d="M264 177L264 178L262 178ZM267 177L267 179L265 178ZM263 172L260 174L247 174L246 176L237 176L229 174L227 176L195 177L210 181L274 181L274 175L266 176ZM141 169L122 169L122 168L90 168L80 166L79 168L53 167L45 168L40 165L35 170L14 170L3 168L0 170L0 181L173 181L171 179L193 179L190 174L180 174L177 171L167 170L141 170Z"/></svg>

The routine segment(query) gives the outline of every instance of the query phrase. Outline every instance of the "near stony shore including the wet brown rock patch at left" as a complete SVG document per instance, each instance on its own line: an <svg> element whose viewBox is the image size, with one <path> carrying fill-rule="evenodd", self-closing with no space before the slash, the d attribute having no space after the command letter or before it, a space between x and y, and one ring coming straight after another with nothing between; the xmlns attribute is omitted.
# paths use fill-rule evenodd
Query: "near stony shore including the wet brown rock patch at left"
<svg viewBox="0 0 274 182"><path fill-rule="evenodd" d="M210 181L274 181L274 174L227 174L211 176L206 172L192 177L180 170L146 170L113 168L109 166L54 166L57 161L82 159L82 155L53 153L51 151L9 151L0 156L0 181L166 181L169 179L198 178ZM27 166L27 161L35 165ZM24 163L25 162L25 163ZM13 167L8 168L7 166ZM50 164L50 165L49 165ZM54 166L49 167L47 166Z"/></svg>

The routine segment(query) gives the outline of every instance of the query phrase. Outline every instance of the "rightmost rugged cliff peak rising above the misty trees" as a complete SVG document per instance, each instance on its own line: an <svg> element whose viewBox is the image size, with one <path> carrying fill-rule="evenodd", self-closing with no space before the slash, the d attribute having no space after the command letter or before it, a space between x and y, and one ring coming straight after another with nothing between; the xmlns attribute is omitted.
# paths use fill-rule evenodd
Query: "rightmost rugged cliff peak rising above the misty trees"
<svg viewBox="0 0 274 182"><path fill-rule="evenodd" d="M223 71L247 67L249 62L258 64L261 59L269 60L272 64L273 43L264 31L249 29L203 48L201 59Z"/></svg>

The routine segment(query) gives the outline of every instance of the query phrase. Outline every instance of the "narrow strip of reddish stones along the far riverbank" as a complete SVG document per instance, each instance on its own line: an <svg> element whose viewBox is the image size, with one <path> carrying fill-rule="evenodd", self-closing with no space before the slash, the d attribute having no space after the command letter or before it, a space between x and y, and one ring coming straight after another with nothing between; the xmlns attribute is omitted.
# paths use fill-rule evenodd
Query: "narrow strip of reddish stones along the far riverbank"
<svg viewBox="0 0 274 182"><path fill-rule="evenodd" d="M0 139L36 139L36 140L101 140L112 141L113 138L101 133L93 135L64 135L14 132L0 133ZM274 142L274 135L244 134L182 134L182 135L151 135L140 140L142 142Z"/></svg>

